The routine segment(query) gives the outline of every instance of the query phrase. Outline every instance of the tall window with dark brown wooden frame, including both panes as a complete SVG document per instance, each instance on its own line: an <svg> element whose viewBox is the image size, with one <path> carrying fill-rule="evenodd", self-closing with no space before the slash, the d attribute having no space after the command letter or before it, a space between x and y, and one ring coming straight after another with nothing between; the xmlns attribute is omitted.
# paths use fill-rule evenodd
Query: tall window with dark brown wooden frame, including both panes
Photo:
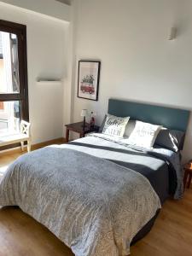
<svg viewBox="0 0 192 256"><path fill-rule="evenodd" d="M26 26L0 20L0 137L28 121Z"/></svg>

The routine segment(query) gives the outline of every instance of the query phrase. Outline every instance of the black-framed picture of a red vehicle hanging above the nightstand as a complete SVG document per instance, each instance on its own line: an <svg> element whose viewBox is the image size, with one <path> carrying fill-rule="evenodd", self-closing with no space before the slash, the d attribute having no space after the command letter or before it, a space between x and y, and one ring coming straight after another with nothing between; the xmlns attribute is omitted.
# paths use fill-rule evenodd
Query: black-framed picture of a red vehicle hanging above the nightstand
<svg viewBox="0 0 192 256"><path fill-rule="evenodd" d="M98 101L101 61L79 61L78 97Z"/></svg>

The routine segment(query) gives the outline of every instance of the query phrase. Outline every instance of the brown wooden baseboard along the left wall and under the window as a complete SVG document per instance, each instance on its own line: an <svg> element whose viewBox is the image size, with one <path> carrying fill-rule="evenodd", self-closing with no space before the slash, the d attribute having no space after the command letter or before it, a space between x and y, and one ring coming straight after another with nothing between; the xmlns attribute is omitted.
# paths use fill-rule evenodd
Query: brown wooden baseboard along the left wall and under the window
<svg viewBox="0 0 192 256"><path fill-rule="evenodd" d="M37 144L33 144L32 145L32 150L36 150L38 148L44 148L46 146L49 146L49 145L53 145L53 144L63 144L63 143L66 143L66 140L64 137L60 137L60 138L56 138L54 140L50 140L50 141L47 141L47 142L44 142L44 143L37 143ZM26 151L26 146L24 147L24 151ZM5 150L2 150L0 151L0 157L3 156L4 154L17 154L17 153L20 153L21 152L21 149L20 147L16 147L16 148L9 148L9 149L5 149Z"/></svg>

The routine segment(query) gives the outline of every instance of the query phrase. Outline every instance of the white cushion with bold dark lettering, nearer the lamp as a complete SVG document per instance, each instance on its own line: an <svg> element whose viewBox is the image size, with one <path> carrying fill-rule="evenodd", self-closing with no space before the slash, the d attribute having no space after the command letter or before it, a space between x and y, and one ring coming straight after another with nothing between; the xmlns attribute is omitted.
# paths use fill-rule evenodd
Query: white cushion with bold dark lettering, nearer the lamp
<svg viewBox="0 0 192 256"><path fill-rule="evenodd" d="M129 119L130 117L121 118L108 114L102 133L113 137L123 137Z"/></svg>

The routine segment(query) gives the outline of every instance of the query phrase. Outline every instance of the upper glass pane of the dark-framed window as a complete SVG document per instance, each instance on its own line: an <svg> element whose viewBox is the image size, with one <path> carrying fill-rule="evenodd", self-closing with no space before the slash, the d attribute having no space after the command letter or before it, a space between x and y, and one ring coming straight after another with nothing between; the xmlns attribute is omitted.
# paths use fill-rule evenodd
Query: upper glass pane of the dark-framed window
<svg viewBox="0 0 192 256"><path fill-rule="evenodd" d="M17 36L9 32L0 31L0 94L19 92Z"/></svg>

